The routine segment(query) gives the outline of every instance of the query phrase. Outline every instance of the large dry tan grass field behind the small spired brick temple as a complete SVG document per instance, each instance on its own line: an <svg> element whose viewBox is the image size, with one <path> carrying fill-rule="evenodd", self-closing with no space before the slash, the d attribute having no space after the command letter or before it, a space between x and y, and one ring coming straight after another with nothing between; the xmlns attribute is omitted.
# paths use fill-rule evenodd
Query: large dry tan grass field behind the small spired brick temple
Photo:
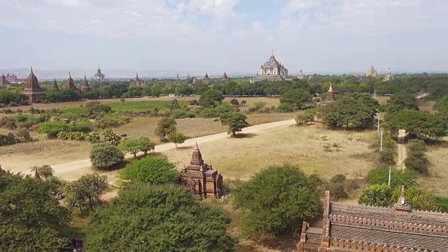
<svg viewBox="0 0 448 252"><path fill-rule="evenodd" d="M297 164L307 174L330 178L335 174L362 177L372 168L370 160L355 155L370 153L364 139L373 132L353 133L330 131L321 127L285 127L246 138L222 139L200 146L204 160L228 179L250 179L267 165ZM327 139L325 141L325 139ZM339 144L324 151L324 144ZM339 149L339 151L337 151ZM164 152L170 160L183 167L190 162L191 148Z"/></svg>

